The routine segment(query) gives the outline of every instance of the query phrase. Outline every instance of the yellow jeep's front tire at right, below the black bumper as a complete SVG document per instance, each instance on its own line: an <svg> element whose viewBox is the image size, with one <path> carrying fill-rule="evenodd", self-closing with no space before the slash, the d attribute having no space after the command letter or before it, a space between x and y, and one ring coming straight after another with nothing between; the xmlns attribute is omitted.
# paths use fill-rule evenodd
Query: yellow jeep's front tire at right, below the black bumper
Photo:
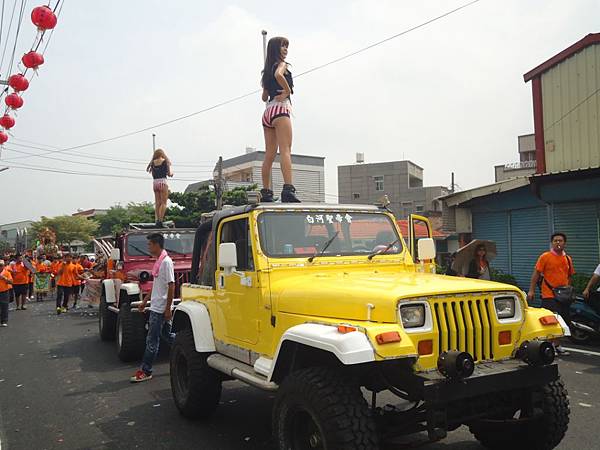
<svg viewBox="0 0 600 450"><path fill-rule="evenodd" d="M569 400L561 379L540 388L543 396L542 412L539 420L518 426L517 419L502 421L480 421L471 424L469 429L475 438L490 449L551 450L565 436L569 426Z"/></svg>

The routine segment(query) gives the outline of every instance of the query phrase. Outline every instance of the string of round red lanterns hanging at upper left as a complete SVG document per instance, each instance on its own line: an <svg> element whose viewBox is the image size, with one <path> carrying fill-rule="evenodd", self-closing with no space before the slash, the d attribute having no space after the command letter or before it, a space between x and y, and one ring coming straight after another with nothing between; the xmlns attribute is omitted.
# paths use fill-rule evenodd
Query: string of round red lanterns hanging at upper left
<svg viewBox="0 0 600 450"><path fill-rule="evenodd" d="M58 3L56 6L58 6ZM56 9L56 7L54 9ZM15 119L9 112L15 111L23 106L23 97L21 97L20 94L29 87L29 80L25 77L27 70L32 69L37 71L38 67L44 64L44 55L37 52L37 47L39 47L39 44L44 37L44 33L47 30L52 30L56 26L58 18L49 6L42 5L33 8L31 11L31 22L37 27L38 36L34 41L32 49L25 53L21 58L21 63L26 69L23 73L15 73L8 78L8 86L13 92L4 98L6 111L4 115L0 117L0 127L2 127L2 131L0 131L0 145L3 145L8 141L8 130L15 126Z"/></svg>

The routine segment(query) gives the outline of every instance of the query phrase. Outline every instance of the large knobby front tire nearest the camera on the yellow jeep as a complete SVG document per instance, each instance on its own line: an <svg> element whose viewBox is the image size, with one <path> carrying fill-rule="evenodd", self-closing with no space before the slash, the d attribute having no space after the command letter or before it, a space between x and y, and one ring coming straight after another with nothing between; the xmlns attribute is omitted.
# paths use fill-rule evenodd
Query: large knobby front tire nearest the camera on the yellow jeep
<svg viewBox="0 0 600 450"><path fill-rule="evenodd" d="M313 367L290 374L273 406L273 437L281 450L373 450L375 423L360 387L343 372Z"/></svg>

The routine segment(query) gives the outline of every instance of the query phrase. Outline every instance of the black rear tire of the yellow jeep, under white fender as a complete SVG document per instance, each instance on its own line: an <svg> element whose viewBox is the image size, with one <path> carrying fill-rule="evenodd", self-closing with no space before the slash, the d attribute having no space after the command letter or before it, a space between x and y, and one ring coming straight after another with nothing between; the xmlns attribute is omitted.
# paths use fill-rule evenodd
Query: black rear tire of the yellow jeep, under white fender
<svg viewBox="0 0 600 450"><path fill-rule="evenodd" d="M175 406L189 419L210 417L221 399L221 375L209 367L210 353L199 353L191 329L175 336L170 353L171 392Z"/></svg>

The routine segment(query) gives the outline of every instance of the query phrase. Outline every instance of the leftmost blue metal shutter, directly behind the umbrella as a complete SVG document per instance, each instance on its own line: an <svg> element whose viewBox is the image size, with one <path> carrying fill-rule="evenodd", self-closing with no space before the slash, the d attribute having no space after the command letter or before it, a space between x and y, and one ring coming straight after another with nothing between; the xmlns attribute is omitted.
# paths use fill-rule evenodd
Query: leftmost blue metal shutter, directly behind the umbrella
<svg viewBox="0 0 600 450"><path fill-rule="evenodd" d="M502 212L472 213L473 238L488 239L496 242L498 256L491 266L510 273L508 266L508 214Z"/></svg>

